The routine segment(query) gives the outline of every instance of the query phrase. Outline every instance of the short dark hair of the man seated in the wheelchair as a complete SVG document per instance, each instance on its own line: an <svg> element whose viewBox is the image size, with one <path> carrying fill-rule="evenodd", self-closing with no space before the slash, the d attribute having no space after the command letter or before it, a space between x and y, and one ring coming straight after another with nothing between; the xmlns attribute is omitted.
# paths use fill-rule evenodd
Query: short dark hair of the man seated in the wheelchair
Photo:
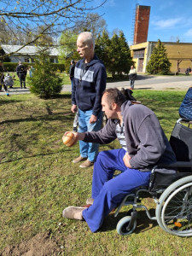
<svg viewBox="0 0 192 256"><path fill-rule="evenodd" d="M126 101L125 96L117 88L109 88L103 92L103 95L104 94L106 94L109 109L112 109L113 102L121 107L121 105Z"/></svg>

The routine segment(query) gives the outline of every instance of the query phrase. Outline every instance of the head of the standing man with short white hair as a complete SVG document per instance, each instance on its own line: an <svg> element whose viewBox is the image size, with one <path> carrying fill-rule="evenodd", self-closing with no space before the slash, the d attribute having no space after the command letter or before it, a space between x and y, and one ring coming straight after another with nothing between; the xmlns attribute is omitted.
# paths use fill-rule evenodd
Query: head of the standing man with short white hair
<svg viewBox="0 0 192 256"><path fill-rule="evenodd" d="M95 42L91 32L82 32L78 36L77 51L85 62L90 62L94 56Z"/></svg>

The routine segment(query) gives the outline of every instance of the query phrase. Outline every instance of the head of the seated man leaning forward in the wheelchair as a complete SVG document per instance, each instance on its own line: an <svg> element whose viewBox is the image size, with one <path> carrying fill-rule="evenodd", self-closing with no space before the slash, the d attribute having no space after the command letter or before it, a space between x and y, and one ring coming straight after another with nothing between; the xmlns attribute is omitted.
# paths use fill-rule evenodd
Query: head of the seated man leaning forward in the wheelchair
<svg viewBox="0 0 192 256"><path fill-rule="evenodd" d="M120 107L125 101L125 96L117 88L107 89L102 96L102 111L108 119L119 119Z"/></svg>

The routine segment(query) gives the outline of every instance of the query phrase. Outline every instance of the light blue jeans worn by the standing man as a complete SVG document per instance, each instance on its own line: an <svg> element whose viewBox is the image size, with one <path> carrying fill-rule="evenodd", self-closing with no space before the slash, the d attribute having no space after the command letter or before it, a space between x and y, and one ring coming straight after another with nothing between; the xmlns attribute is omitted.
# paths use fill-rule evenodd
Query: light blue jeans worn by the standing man
<svg viewBox="0 0 192 256"><path fill-rule="evenodd" d="M96 123L90 124L90 116L92 114L92 109L82 111L79 109L79 132L84 131L99 131L102 127L102 112L97 116ZM90 162L96 159L98 154L99 144L97 143L84 143L79 141L80 155L82 157L87 157Z"/></svg>

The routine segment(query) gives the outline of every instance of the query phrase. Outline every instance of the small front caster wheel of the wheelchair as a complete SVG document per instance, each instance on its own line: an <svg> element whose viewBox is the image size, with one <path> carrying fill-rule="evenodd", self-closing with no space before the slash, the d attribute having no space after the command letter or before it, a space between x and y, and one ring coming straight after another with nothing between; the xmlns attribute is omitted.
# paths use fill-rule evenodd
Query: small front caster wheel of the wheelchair
<svg viewBox="0 0 192 256"><path fill-rule="evenodd" d="M117 232L119 235L125 236L130 235L137 227L137 221L135 220L131 227L128 228L129 224L131 222L131 216L125 216L124 218L121 218L119 220L119 223L117 224Z"/></svg>

